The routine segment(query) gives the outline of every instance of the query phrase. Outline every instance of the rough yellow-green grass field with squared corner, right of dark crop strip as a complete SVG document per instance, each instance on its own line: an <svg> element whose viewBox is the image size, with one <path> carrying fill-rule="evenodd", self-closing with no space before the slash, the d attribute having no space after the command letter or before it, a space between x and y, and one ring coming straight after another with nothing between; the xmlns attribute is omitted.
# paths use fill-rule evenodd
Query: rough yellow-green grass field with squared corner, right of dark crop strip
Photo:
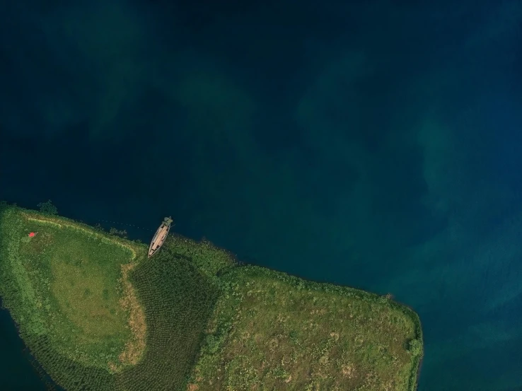
<svg viewBox="0 0 522 391"><path fill-rule="evenodd" d="M414 390L416 315L386 298L259 267L223 277L192 388Z"/></svg>

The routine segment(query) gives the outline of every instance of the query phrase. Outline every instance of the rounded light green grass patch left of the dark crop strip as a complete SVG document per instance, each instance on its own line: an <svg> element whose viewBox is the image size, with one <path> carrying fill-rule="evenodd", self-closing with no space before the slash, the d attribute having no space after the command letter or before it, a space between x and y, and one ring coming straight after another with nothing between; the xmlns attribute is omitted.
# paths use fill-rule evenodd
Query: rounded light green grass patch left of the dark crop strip
<svg viewBox="0 0 522 391"><path fill-rule="evenodd" d="M18 262L53 348L86 366L119 363L132 338L129 312L120 305L122 264L132 251L86 228L21 216ZM37 235L28 239L28 232Z"/></svg>

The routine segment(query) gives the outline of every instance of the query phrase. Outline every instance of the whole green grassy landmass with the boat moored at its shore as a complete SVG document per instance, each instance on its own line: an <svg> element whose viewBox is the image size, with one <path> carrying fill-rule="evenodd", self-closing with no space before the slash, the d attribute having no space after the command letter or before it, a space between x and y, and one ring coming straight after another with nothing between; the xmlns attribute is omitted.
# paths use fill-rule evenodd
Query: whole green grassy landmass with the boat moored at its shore
<svg viewBox="0 0 522 391"><path fill-rule="evenodd" d="M147 250L48 204L0 203L0 296L64 389L416 389L419 317L390 296L244 265L172 233Z"/></svg>

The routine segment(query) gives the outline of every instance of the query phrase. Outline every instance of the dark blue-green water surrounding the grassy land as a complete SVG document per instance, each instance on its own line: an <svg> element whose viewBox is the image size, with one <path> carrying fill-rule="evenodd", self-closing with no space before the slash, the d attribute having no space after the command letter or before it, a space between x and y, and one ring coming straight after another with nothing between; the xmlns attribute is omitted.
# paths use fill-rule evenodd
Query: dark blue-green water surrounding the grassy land
<svg viewBox="0 0 522 391"><path fill-rule="evenodd" d="M521 389L520 1L109 3L0 5L0 199L393 293L419 390Z"/></svg>

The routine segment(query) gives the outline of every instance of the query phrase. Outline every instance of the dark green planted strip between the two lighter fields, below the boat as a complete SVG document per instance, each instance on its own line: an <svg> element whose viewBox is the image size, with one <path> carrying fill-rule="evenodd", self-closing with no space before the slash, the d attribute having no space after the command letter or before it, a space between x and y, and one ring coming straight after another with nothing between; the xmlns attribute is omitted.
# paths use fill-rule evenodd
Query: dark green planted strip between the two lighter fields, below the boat
<svg viewBox="0 0 522 391"><path fill-rule="evenodd" d="M204 252L205 245L194 245ZM183 390L218 288L173 251L139 264L130 280L145 308L148 335L143 360L118 377L118 390Z"/></svg>

